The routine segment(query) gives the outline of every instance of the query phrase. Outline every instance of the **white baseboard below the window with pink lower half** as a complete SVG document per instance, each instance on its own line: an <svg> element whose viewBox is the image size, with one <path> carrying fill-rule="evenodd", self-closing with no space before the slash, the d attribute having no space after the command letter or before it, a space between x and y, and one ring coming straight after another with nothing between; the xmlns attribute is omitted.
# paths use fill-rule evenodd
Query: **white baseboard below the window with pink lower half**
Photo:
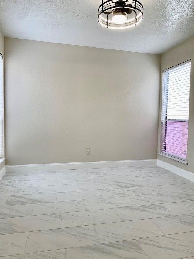
<svg viewBox="0 0 194 259"><path fill-rule="evenodd" d="M163 162L159 159L157 161L157 165L166 170L169 170L170 172L175 173L176 175L182 176L182 177L194 182L194 173L181 169L175 165L171 165L169 163Z"/></svg>

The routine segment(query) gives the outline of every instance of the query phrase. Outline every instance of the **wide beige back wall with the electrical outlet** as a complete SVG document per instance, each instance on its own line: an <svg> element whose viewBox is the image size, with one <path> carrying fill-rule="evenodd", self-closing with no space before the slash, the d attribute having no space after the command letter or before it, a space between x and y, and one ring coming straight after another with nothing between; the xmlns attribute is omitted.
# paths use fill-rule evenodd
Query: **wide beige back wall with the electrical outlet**
<svg viewBox="0 0 194 259"><path fill-rule="evenodd" d="M6 164L157 158L160 59L5 38Z"/></svg>

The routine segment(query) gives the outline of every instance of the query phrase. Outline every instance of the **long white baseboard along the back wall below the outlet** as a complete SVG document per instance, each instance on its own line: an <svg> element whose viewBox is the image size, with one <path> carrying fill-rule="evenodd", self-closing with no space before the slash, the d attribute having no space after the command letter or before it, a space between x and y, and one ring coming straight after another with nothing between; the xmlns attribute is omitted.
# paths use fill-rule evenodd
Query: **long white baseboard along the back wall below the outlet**
<svg viewBox="0 0 194 259"><path fill-rule="evenodd" d="M6 165L6 172L37 172L37 171L55 171L70 169L90 169L90 168L108 168L108 167L126 167L126 166L150 166L157 165L157 159L149 160L124 160L124 161L100 161L100 162L78 162L78 163L60 163L60 164L37 164L37 165Z"/></svg>

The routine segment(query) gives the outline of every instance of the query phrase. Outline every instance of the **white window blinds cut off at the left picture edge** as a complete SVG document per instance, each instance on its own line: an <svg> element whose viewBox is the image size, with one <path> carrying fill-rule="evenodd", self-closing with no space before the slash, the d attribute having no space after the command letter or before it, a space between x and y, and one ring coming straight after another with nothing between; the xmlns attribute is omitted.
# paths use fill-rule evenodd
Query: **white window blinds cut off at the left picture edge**
<svg viewBox="0 0 194 259"><path fill-rule="evenodd" d="M3 56L0 54L0 157L4 157Z"/></svg>

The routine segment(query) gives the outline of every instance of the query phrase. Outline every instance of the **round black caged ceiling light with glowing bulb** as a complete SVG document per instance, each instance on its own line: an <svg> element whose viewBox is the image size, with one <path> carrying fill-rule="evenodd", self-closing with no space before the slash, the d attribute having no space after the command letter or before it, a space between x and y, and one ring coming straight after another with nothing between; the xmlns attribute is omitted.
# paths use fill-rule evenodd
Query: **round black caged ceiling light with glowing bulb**
<svg viewBox="0 0 194 259"><path fill-rule="evenodd" d="M143 5L136 0L102 0L98 9L99 23L111 29L125 29L143 19Z"/></svg>

